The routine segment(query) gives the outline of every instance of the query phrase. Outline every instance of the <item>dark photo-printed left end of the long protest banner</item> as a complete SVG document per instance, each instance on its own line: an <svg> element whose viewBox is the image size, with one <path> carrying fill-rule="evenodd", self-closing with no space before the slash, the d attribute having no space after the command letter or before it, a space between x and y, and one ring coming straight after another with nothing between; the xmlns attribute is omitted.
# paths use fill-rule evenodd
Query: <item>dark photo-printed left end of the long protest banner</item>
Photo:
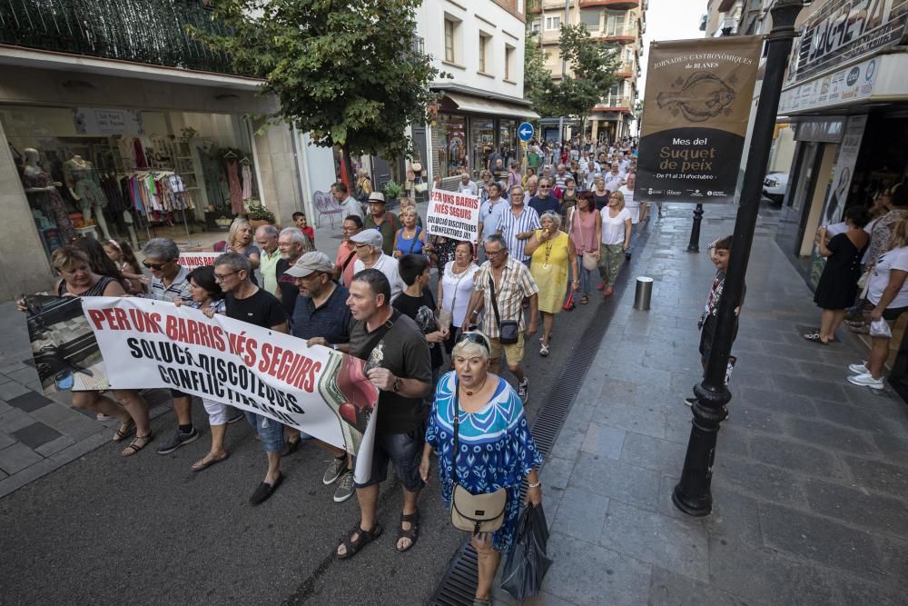
<svg viewBox="0 0 908 606"><path fill-rule="evenodd" d="M102 391L107 371L79 297L30 294L24 297L28 340L44 395Z"/></svg>

